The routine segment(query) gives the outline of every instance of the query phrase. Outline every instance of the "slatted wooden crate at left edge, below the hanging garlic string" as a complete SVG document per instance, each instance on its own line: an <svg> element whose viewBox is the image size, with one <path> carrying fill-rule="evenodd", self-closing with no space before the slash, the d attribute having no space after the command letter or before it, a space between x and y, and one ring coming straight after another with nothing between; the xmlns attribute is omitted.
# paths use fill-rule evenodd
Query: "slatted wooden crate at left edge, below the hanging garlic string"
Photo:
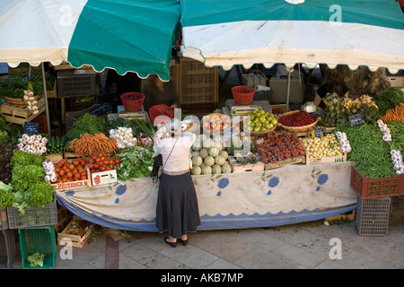
<svg viewBox="0 0 404 287"><path fill-rule="evenodd" d="M13 105L4 103L1 105L1 113L5 120L9 123L23 125L25 122L31 122L32 119L38 117L45 111L45 100L38 100L38 114L31 114L31 110L24 105Z"/></svg>

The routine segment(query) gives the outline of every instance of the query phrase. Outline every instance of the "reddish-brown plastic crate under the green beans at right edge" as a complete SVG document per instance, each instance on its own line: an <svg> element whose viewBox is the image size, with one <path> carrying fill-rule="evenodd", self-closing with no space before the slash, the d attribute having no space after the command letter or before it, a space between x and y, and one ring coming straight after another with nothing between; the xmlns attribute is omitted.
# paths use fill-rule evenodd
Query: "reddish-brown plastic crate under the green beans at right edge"
<svg viewBox="0 0 404 287"><path fill-rule="evenodd" d="M404 175L392 178L364 178L352 167L351 187L362 198L378 198L404 195Z"/></svg>

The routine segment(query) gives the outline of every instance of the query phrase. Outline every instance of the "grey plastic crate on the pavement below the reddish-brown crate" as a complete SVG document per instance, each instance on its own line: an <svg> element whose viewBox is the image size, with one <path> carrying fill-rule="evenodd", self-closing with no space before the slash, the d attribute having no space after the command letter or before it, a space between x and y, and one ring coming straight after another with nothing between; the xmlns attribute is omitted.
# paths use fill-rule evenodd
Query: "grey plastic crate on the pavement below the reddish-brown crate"
<svg viewBox="0 0 404 287"><path fill-rule="evenodd" d="M391 197L361 198L356 204L356 228L362 236L386 236L389 229Z"/></svg>

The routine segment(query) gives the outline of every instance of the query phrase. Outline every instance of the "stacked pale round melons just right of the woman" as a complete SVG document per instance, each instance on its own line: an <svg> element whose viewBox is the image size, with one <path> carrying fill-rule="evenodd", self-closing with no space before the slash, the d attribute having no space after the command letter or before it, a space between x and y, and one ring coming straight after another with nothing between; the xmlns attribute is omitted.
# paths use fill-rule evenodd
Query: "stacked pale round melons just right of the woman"
<svg viewBox="0 0 404 287"><path fill-rule="evenodd" d="M228 156L223 135L215 135L213 138L199 135L189 152L191 174L230 173L232 167L227 161Z"/></svg>

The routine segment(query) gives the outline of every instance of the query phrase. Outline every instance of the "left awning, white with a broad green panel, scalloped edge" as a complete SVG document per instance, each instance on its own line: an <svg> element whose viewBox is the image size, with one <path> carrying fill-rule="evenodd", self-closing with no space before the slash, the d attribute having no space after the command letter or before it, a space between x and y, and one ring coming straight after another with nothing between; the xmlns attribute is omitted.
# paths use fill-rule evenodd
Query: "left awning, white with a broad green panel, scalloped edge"
<svg viewBox="0 0 404 287"><path fill-rule="evenodd" d="M3 0L0 62L41 62L170 78L180 21L176 0Z"/></svg>

